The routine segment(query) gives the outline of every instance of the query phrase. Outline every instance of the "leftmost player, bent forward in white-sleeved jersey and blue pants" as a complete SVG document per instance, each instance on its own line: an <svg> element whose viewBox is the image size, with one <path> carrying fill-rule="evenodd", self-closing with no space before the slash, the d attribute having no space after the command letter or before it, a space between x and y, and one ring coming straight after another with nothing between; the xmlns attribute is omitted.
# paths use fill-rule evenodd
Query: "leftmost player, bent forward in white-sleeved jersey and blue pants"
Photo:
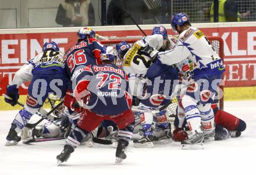
<svg viewBox="0 0 256 175"><path fill-rule="evenodd" d="M15 106L19 99L19 87L22 83L30 81L27 101L24 108L17 113L6 137L6 146L16 145L20 141L17 135L30 120L30 117L41 108L49 94L63 98L67 89L67 77L63 53L58 45L45 42L42 53L30 59L16 73L13 81L7 87L6 94L12 98L5 98L5 102Z"/></svg>

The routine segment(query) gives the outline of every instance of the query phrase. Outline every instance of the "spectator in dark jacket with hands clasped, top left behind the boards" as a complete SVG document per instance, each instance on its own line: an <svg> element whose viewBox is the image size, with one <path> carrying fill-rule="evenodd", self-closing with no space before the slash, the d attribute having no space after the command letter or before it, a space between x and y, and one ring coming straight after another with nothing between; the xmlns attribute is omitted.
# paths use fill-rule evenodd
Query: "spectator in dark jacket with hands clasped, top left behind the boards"
<svg viewBox="0 0 256 175"><path fill-rule="evenodd" d="M55 21L63 27L94 26L93 5L90 0L65 0L59 5Z"/></svg>

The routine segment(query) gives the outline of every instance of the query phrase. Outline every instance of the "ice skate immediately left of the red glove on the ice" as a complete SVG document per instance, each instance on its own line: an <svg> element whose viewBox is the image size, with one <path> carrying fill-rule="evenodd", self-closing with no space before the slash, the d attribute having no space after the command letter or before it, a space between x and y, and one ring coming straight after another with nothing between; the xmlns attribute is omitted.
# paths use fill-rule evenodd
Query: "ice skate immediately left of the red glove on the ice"
<svg viewBox="0 0 256 175"><path fill-rule="evenodd" d="M158 127L153 131L154 144L166 144L172 139L172 132L170 131L170 124L168 128Z"/></svg>

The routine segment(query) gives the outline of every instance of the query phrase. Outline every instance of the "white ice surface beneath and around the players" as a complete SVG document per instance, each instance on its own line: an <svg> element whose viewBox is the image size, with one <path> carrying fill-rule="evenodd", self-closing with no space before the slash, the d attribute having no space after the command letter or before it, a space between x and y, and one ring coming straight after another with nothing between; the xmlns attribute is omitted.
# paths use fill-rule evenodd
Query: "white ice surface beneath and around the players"
<svg viewBox="0 0 256 175"><path fill-rule="evenodd" d="M56 166L65 140L5 147L5 137L17 110L0 111L0 175L6 174L256 174L256 101L225 102L225 110L243 119L247 129L239 138L205 144L203 150L182 150L178 142L134 148L115 165L115 148L95 144L79 147Z"/></svg>

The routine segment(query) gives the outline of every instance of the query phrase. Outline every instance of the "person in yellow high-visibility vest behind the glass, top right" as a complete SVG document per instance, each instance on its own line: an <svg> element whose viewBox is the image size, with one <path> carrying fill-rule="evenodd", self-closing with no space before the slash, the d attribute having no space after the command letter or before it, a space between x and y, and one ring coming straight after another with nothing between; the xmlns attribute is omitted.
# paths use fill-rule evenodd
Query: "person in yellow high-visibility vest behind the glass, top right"
<svg viewBox="0 0 256 175"><path fill-rule="evenodd" d="M233 0L219 1L219 22L240 22L240 14ZM214 3L211 5L210 22L214 22Z"/></svg>

